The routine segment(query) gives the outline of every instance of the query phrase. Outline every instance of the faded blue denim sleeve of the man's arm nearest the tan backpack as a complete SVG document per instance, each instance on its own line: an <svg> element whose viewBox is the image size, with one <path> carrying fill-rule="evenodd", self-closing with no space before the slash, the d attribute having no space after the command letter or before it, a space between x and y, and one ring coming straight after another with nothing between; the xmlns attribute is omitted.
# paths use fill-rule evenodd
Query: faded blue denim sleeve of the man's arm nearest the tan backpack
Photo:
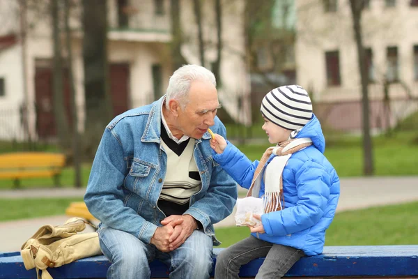
<svg viewBox="0 0 418 279"><path fill-rule="evenodd" d="M123 146L117 135L106 128L93 161L84 202L88 211L102 223L149 243L157 225L147 222L123 203L126 174Z"/></svg>

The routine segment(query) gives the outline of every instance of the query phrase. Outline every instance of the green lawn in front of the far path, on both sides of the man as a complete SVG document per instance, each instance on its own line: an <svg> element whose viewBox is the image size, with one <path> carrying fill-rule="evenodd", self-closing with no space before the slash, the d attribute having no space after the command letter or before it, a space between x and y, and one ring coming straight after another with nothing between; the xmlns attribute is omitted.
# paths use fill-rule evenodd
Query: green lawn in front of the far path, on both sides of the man
<svg viewBox="0 0 418 279"><path fill-rule="evenodd" d="M0 221L63 215L73 201L82 199L0 199ZM407 245L418 243L418 202L337 213L327 230L325 245ZM216 229L220 247L249 236L247 227Z"/></svg>

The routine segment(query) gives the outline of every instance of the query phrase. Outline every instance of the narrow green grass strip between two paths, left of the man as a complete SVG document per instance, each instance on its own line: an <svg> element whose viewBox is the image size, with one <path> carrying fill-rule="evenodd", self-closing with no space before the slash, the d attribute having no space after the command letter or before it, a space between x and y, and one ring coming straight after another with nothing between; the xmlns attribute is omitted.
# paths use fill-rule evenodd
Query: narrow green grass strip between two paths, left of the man
<svg viewBox="0 0 418 279"><path fill-rule="evenodd" d="M0 221L63 215L70 202L82 198L0 199Z"/></svg>

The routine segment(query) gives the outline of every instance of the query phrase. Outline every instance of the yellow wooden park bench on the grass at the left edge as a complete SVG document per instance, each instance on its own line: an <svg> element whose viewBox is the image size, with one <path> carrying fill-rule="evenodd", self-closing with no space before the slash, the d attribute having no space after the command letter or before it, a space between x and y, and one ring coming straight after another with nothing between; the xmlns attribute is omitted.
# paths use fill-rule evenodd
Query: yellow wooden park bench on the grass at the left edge
<svg viewBox="0 0 418 279"><path fill-rule="evenodd" d="M20 187L20 179L52 177L59 186L59 175L65 165L65 155L47 152L16 152L0 154L0 179L13 179Z"/></svg>

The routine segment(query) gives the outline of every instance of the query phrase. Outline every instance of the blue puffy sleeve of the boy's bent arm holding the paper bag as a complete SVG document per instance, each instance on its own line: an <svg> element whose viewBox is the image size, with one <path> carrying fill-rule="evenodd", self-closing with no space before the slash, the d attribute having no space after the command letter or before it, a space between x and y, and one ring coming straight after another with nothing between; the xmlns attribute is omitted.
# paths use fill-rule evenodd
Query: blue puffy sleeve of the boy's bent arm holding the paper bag
<svg viewBox="0 0 418 279"><path fill-rule="evenodd" d="M311 160L295 174L297 197L295 206L263 214L261 221L269 236L285 236L312 227L323 216L330 197L330 174Z"/></svg>

